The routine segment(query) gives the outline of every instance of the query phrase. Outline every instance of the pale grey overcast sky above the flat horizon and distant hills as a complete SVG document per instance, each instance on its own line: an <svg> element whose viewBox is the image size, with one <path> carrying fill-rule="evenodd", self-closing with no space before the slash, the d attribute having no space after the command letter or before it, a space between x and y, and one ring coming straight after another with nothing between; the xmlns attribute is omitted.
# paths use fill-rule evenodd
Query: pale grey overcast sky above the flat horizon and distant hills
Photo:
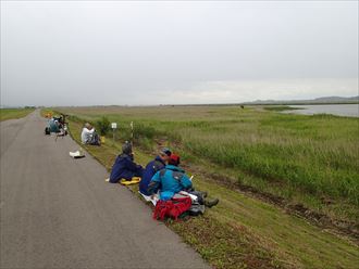
<svg viewBox="0 0 359 269"><path fill-rule="evenodd" d="M1 1L1 105L358 95L358 1Z"/></svg>

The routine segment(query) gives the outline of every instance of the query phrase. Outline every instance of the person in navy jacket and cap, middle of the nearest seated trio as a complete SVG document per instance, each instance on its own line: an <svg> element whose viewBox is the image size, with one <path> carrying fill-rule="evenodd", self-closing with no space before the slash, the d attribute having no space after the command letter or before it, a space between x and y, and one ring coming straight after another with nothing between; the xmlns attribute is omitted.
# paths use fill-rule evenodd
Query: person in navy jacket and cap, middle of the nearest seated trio
<svg viewBox="0 0 359 269"><path fill-rule="evenodd" d="M143 178L139 182L139 192L141 194L147 196L150 195L150 193L147 191L148 184L150 183L154 174L164 168L171 156L171 153L172 152L169 149L164 148L160 151L160 154L153 161L147 164Z"/></svg>

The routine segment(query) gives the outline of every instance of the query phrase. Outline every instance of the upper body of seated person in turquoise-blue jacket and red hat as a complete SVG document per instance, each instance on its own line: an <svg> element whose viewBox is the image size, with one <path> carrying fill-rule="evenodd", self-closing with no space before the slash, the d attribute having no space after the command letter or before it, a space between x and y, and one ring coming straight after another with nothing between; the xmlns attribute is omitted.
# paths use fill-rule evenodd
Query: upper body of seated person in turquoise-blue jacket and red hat
<svg viewBox="0 0 359 269"><path fill-rule="evenodd" d="M154 174L148 185L148 193L153 194L160 190L160 198L171 200L180 191L191 188L191 181L185 171L178 167L180 156L171 154L169 164L164 169Z"/></svg>

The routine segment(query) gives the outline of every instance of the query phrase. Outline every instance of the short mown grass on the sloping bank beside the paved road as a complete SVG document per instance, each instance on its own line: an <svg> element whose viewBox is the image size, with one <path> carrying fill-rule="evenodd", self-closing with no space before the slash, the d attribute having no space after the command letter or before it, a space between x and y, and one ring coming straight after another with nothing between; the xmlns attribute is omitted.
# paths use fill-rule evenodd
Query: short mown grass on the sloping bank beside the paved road
<svg viewBox="0 0 359 269"><path fill-rule="evenodd" d="M70 119L70 131L79 142L82 121L72 119L79 118ZM121 136L125 137L125 131L119 133ZM102 146L85 148L110 169L121 143L113 143L108 138ZM146 164L152 157L135 144L136 162ZM195 155L188 154L185 163L189 159L195 163L193 168L210 170ZM220 166L212 168L219 174L224 172ZM188 172L198 170L189 169ZM356 268L359 264L359 249L354 243L201 174L196 174L194 182L197 189L219 197L220 204L208 209L202 217L166 221L166 225L214 268ZM137 189L132 187L132 190L136 193Z"/></svg>

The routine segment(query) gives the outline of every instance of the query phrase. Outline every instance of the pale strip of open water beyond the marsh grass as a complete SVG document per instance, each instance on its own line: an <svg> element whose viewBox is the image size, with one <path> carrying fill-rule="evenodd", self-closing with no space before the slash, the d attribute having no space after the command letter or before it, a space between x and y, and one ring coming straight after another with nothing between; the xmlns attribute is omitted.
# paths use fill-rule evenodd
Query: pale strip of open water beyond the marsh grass
<svg viewBox="0 0 359 269"><path fill-rule="evenodd" d="M301 110L285 111L288 114L333 114L346 117L359 117L359 104L315 104L315 105L289 105Z"/></svg>

